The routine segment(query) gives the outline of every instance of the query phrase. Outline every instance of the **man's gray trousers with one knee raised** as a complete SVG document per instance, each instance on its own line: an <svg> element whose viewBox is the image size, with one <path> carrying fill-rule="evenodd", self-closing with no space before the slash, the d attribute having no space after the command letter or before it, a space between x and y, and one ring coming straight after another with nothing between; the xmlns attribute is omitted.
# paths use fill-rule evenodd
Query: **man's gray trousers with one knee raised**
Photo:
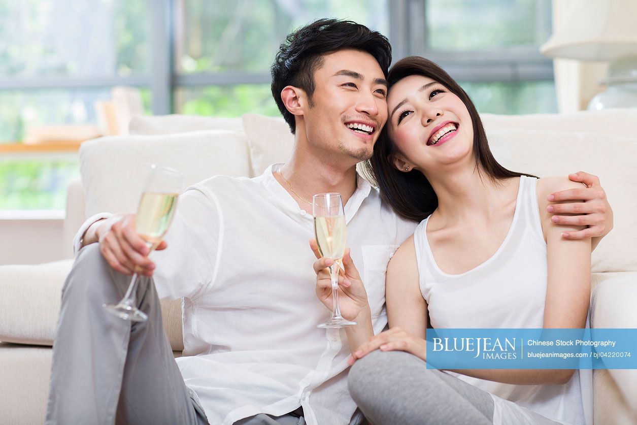
<svg viewBox="0 0 637 425"><path fill-rule="evenodd" d="M117 303L131 277L113 270L97 243L78 253L62 289L47 425L208 424L175 363L152 278L139 279L136 301L148 321L131 324L102 306ZM303 425L304 420L262 414L239 423Z"/></svg>

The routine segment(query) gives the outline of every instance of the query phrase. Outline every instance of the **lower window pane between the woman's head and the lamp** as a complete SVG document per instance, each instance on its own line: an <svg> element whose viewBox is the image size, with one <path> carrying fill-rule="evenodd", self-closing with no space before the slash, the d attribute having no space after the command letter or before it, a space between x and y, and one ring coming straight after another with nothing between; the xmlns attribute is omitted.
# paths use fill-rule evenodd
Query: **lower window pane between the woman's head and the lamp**
<svg viewBox="0 0 637 425"><path fill-rule="evenodd" d="M461 83L480 113L555 113L557 97L552 81L519 83Z"/></svg>

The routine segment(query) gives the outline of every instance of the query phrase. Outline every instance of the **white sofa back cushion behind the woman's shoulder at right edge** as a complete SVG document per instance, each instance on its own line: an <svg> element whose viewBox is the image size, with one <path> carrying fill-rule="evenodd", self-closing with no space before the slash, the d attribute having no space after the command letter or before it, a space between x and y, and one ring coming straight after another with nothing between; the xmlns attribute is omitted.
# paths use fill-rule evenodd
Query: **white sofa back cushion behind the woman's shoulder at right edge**
<svg viewBox="0 0 637 425"><path fill-rule="evenodd" d="M512 171L598 175L613 208L615 230L593 252L592 271L637 271L637 135L500 128L487 131L487 137L497 161Z"/></svg>

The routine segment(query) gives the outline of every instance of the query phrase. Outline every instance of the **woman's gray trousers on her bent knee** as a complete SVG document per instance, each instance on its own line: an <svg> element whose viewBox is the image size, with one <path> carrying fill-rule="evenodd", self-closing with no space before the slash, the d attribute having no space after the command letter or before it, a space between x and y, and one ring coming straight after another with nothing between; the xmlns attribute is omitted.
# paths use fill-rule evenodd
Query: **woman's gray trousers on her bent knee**
<svg viewBox="0 0 637 425"><path fill-rule="evenodd" d="M348 385L375 425L492 424L489 393L404 351L373 351L352 366Z"/></svg>

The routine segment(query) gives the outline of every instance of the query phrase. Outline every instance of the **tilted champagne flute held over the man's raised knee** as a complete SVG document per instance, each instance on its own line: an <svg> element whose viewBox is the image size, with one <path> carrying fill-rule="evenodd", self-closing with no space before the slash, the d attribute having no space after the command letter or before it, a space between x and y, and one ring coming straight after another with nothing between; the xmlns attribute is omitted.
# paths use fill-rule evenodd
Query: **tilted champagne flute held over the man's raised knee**
<svg viewBox="0 0 637 425"><path fill-rule="evenodd" d="M140 205L135 216L135 231L150 251L161 243L168 226L173 219L177 197L182 189L183 174L173 168L153 165L141 194ZM137 286L138 267L132 275L131 284L124 298L115 304L104 304L106 310L126 321L145 322L148 315L136 307L135 291Z"/></svg>

